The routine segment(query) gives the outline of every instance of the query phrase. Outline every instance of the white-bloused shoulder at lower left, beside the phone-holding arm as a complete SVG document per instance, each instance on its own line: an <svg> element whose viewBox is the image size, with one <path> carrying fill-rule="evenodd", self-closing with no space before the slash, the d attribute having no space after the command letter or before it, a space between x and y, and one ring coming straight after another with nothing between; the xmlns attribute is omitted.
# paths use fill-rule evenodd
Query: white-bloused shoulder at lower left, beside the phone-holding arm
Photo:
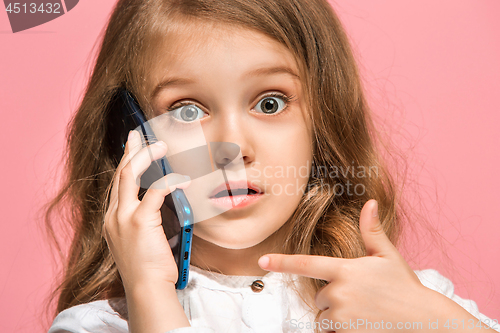
<svg viewBox="0 0 500 333"><path fill-rule="evenodd" d="M80 304L61 311L48 333L109 332L128 333L128 322L108 300Z"/></svg>

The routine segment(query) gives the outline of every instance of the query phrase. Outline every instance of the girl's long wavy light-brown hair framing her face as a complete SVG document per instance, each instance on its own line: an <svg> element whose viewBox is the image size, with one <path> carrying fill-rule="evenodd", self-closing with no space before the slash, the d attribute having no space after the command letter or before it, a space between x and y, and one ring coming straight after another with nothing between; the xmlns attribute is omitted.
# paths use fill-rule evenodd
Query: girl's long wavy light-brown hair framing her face
<svg viewBox="0 0 500 333"><path fill-rule="evenodd" d="M380 151L385 146L373 125L348 39L326 0L121 0L69 124L65 182L46 207L47 229L65 262L62 281L52 294L57 297L55 314L124 296L101 233L116 168L104 142L108 105L123 86L138 97L146 114L152 112L147 73L157 61L155 51L167 45L169 31L188 20L253 29L285 45L297 59L314 129L313 172L307 192L284 225L288 237L282 252L365 255L358 219L363 204L372 198L379 202L386 234L398 244L406 220L399 187L383 162ZM332 177L332 170L339 172ZM70 227L67 254L56 237L57 214ZM323 282L303 278L301 285L304 301L313 304Z"/></svg>

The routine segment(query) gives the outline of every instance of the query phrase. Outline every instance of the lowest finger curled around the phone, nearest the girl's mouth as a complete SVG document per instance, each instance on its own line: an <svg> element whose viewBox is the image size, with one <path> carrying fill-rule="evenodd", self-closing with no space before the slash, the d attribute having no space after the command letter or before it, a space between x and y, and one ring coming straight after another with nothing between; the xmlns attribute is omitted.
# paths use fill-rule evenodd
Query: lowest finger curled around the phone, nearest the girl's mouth
<svg viewBox="0 0 500 333"><path fill-rule="evenodd" d="M189 176L183 176L178 173L170 173L154 182L146 191L142 198L137 214L148 214L160 210L165 197L175 191L177 188L186 188L191 184Z"/></svg>

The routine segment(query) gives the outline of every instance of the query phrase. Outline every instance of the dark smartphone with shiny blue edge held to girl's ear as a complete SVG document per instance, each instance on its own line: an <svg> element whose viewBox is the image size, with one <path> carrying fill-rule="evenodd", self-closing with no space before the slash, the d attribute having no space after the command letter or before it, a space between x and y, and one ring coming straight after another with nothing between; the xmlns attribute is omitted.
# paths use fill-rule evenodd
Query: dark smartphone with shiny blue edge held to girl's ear
<svg viewBox="0 0 500 333"><path fill-rule="evenodd" d="M129 131L140 128L148 145L157 141L152 131L148 128L146 117L140 109L139 104L126 89L120 88L113 97L108 109L107 120L108 149L116 165L118 165L123 157ZM167 158L162 157L159 160L153 161L141 177L145 177L147 174L156 175L145 177L145 179L153 179L150 181L152 183L154 180L160 178L158 175L164 176L172 172L173 170ZM147 191L146 187L142 187L143 185L149 187L151 184L143 184L141 179L139 200L142 200ZM182 189L175 189L165 197L160 212L163 230L170 244L179 273L175 287L176 289L184 289L189 281L189 262L191 260L191 241L194 224L193 210L184 191Z"/></svg>

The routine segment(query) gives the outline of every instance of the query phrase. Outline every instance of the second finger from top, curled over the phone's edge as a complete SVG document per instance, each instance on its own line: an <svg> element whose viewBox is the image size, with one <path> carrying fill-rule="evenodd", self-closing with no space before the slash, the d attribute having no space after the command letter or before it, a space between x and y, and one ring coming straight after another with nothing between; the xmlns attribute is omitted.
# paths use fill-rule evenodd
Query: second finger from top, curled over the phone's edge
<svg viewBox="0 0 500 333"><path fill-rule="evenodd" d="M118 209L128 207L138 202L138 179L149 168L152 161L165 156L167 145L163 141L146 146L139 150L135 156L120 171L120 184L118 186Z"/></svg>

